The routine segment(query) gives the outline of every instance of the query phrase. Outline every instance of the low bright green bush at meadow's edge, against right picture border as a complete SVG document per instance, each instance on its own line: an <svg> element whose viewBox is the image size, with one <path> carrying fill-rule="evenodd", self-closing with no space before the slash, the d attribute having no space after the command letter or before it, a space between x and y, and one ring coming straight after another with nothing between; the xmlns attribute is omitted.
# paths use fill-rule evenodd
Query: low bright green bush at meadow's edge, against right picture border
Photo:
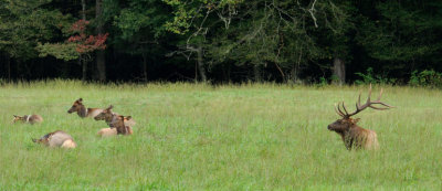
<svg viewBox="0 0 442 191"><path fill-rule="evenodd" d="M413 71L409 85L442 88L442 73L433 70L424 70L422 72Z"/></svg>

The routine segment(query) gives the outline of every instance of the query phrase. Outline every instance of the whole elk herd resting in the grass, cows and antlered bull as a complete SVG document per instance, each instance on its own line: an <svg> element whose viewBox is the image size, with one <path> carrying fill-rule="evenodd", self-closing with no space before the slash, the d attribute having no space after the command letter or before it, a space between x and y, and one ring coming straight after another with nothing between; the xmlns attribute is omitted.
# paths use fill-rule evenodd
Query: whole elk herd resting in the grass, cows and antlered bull
<svg viewBox="0 0 442 191"><path fill-rule="evenodd" d="M346 108L344 102L338 103L337 107L335 105L335 112L341 118L328 125L327 128L328 130L337 132L341 137L344 145L348 150L351 149L376 150L379 148L376 131L359 127L357 125L359 118L351 118L351 117L368 107L377 110L393 108L393 106L380 102L381 96L382 96L382 89L379 93L378 99L371 100L370 98L371 84L370 84L367 102L364 105L361 105L360 94L359 94L355 112L348 113L348 109ZM86 108L83 105L83 99L78 98L77 100L74 102L72 107L67 110L67 113L69 114L76 113L81 118L91 117L94 118L95 120L104 120L108 125L108 127L98 130L97 136L99 137L131 135L133 134L131 126L135 125L134 119L130 116L123 116L112 112L113 108L114 107L112 105L105 109ZM43 118L40 115L24 115L24 116L14 115L13 117L14 117L13 123L22 121L28 124L38 124L43 121ZM43 144L49 147L61 147L61 148L76 147L76 142L74 141L72 136L63 130L55 130L53 132L49 132L43 137L41 137L40 139L32 139L32 141L38 144Z"/></svg>

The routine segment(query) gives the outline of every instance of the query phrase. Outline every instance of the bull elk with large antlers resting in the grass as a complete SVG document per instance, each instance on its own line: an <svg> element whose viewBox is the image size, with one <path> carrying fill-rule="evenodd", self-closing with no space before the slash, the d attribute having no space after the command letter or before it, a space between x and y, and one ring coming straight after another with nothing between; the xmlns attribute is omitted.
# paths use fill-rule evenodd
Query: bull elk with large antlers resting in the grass
<svg viewBox="0 0 442 191"><path fill-rule="evenodd" d="M339 105L340 103L338 103L337 108L335 105L335 112L343 118L328 125L328 130L337 132L343 138L343 141L348 150L351 150L351 148L355 149L362 148L368 150L379 148L376 131L359 127L357 125L359 118L356 119L351 118L351 116L362 112L368 107L378 110L385 110L393 107L380 102L380 97L382 96L382 89L380 91L377 100L370 100L370 96L371 96L371 84L368 92L368 98L366 104L360 105L360 94L359 94L358 102L356 103L356 110L350 114L347 112L344 102L341 103L341 105ZM381 105L383 107L373 106L376 104Z"/></svg>

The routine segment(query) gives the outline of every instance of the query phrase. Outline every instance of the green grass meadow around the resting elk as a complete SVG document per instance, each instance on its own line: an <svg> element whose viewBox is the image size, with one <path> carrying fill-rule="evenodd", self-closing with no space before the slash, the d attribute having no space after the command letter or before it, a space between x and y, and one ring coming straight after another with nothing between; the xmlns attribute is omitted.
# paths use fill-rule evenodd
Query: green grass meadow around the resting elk
<svg viewBox="0 0 442 191"><path fill-rule="evenodd" d="M335 103L354 109L367 86L7 84L0 190L441 190L442 92L383 88L397 108L357 116L380 150L347 151L327 125L338 119ZM104 121L67 114L80 97L133 116L134 135L96 137ZM44 123L12 125L14 114ZM31 141L56 129L78 147Z"/></svg>

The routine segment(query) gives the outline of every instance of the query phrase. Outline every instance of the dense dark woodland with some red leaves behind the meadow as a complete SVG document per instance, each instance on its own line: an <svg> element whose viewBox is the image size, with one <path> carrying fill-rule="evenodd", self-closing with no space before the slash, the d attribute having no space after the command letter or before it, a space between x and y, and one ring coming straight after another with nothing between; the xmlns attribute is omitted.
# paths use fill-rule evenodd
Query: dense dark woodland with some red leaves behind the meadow
<svg viewBox="0 0 442 191"><path fill-rule="evenodd" d="M3 82L442 82L441 40L438 0L0 0Z"/></svg>

